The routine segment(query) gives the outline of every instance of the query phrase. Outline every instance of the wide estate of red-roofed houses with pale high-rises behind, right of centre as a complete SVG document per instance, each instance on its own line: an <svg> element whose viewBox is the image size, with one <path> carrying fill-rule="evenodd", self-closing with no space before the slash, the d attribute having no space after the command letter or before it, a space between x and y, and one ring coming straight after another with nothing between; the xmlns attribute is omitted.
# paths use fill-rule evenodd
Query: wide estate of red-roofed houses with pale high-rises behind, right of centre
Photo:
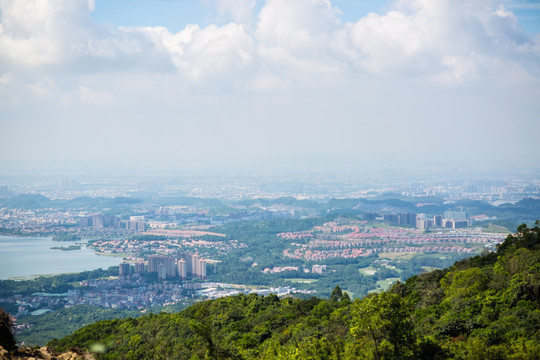
<svg viewBox="0 0 540 360"><path fill-rule="evenodd" d="M484 233L478 229L451 230L469 224L463 211L448 211L444 215L436 215L429 219L420 214L417 215L417 223L418 229L360 227L361 224L356 220L349 224L343 221L338 224L339 226L335 222L329 222L315 226L313 230L298 232L303 238L295 236L294 232L278 236L288 240L302 239L291 242L290 248L283 251L283 257L311 261L370 256L381 251L470 253L485 248L491 249L501 243L506 236L504 233ZM437 226L439 229L426 232L422 230L424 226ZM443 230L443 227L451 229ZM324 230L325 228L328 230ZM317 273L319 269L314 265L312 272Z"/></svg>

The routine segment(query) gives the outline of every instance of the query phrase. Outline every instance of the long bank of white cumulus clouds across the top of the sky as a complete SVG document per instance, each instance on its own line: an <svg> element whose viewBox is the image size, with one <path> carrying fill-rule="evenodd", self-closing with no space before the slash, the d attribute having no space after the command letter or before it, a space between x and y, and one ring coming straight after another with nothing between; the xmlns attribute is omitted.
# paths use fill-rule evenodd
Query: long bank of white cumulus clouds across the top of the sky
<svg viewBox="0 0 540 360"><path fill-rule="evenodd" d="M497 63L496 71L523 62L538 68L538 39L490 0L398 0L386 13L352 23L343 23L329 0L266 0L253 27L245 24L254 18L254 0L212 4L233 22L173 34L164 27L102 28L90 19L92 0L1 0L0 62L75 72L175 68L193 83L215 76L231 84L350 72L463 82L486 62Z"/></svg>

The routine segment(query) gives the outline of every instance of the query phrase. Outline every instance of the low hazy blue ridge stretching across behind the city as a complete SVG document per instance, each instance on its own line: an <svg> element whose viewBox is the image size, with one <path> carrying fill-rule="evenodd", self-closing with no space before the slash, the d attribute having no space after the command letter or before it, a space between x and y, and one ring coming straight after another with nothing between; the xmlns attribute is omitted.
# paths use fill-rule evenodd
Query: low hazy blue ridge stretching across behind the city
<svg viewBox="0 0 540 360"><path fill-rule="evenodd" d="M375 198L329 199L326 201L298 200L293 197L278 199L248 199L229 200L199 198L199 197L164 197L143 199L136 197L77 197L74 199L51 200L42 194L20 194L9 198L0 198L0 207L23 209L78 209L86 208L94 211L107 209L125 210L132 206L149 202L154 206L198 206L220 209L226 213L237 212L237 207L283 206L287 208L312 210L320 213L348 213L353 215L364 212L417 212L430 215L442 214L453 208L464 208L471 215L484 214L496 216L500 220L510 220L516 225L540 217L540 199L525 198L515 204L494 206L481 200L460 200L455 204L444 204L442 199L435 197L408 198L399 194L383 194Z"/></svg>

